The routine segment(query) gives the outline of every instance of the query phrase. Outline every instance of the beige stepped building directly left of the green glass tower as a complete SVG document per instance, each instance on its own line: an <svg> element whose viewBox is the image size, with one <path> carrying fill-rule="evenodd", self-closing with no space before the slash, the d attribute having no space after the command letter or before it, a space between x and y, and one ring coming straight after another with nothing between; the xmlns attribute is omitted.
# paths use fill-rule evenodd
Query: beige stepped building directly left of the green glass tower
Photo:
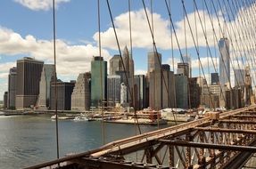
<svg viewBox="0 0 256 169"><path fill-rule="evenodd" d="M86 111L91 104L91 73L81 73L71 95L71 109Z"/></svg>

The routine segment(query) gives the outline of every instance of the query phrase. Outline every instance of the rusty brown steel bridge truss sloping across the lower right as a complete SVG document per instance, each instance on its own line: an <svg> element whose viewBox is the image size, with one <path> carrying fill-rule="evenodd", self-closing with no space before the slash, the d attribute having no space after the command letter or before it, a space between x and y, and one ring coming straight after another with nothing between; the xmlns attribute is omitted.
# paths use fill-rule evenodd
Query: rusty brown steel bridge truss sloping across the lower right
<svg viewBox="0 0 256 169"><path fill-rule="evenodd" d="M256 105L204 117L150 133L143 133L120 141L110 142L99 149L70 155L29 168L56 164L79 165L84 168L144 167L204 168L243 165L256 149L256 123L253 115ZM252 116L252 117L251 117ZM241 123L235 123L241 122ZM163 150L165 149L165 150ZM144 151L141 160L128 162L125 157L138 150ZM165 155L159 156L162 151ZM162 159L161 159L162 157ZM242 158L243 157L243 158ZM245 159L246 157L246 159ZM240 160L239 160L240 158ZM153 161L153 159L156 161ZM152 164L152 165L150 165Z"/></svg>

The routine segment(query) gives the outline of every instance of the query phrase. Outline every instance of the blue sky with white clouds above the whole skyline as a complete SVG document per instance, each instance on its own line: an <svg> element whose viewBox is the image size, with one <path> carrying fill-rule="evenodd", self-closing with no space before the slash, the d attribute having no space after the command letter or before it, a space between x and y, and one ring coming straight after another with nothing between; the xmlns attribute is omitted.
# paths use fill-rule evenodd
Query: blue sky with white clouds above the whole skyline
<svg viewBox="0 0 256 169"><path fill-rule="evenodd" d="M145 74L147 70L147 52L153 50L153 40L142 1L130 1L135 73ZM128 45L128 49L130 49L128 0L109 0L109 2L120 48L123 49L125 45ZM178 50L179 44L182 54L191 57L192 75L198 76L199 63L198 54L194 47L194 37L196 45L199 46L198 52L200 53L205 76L209 78L209 73L214 72L212 61L218 68L218 40L225 34L228 38L233 39L233 45L230 45L230 48L232 48L230 53L231 58L234 59L234 67L237 68L237 62L240 62L240 66L242 65L241 57L244 54L240 51L244 49L250 51L248 47L245 47L245 43L250 44L251 41L246 39L246 41L243 41L244 44L235 43L235 38L238 38L235 35L238 35L239 30L232 28L240 24L239 19L244 20L246 15L243 10L252 14L254 4L241 4L241 6L244 6L243 10L240 6L241 9L234 11L234 15L231 16L231 11L223 10L223 13L221 12L219 5L217 5L218 1L214 1L217 12L214 12L213 5L208 3L210 13L207 12L203 0L196 1L198 12L194 11L195 6L192 0L185 1L187 19L191 25L190 29L181 0L168 0L168 2L170 2L171 18L178 36L178 42L175 39L173 29L170 29L165 1L153 0L153 33L157 49L162 54L163 63L170 64L171 69L172 64L177 65L177 62L181 60ZM150 3L150 0L145 0L146 9L151 20ZM76 80L79 73L90 71L90 61L93 56L99 55L97 1L55 0L55 5L57 74L62 81ZM100 8L102 56L104 60L110 60L111 56L119 52L105 0L100 0ZM228 14L231 16L230 20L228 20ZM52 0L1 0L0 16L0 96L3 96L4 91L7 91L9 69L16 66L16 60L29 56L37 60L44 60L45 63L54 63ZM225 19L226 23L224 22ZM200 24L201 20L202 24ZM243 28L245 33L252 32L252 27L249 26L248 24ZM208 37L210 51L206 47L204 35ZM173 45L171 45L171 39ZM239 49L239 46L241 48L244 46L244 48ZM211 60L211 55L213 60ZM238 60L235 61L237 57ZM202 70L200 72L202 75Z"/></svg>

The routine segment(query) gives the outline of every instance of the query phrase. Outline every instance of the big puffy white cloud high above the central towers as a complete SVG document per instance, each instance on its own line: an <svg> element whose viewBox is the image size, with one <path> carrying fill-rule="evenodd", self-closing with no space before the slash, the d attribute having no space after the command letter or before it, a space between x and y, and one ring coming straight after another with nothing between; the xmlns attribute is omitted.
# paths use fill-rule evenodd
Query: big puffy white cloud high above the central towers
<svg viewBox="0 0 256 169"><path fill-rule="evenodd" d="M160 14L153 13L154 19L154 32L155 40L158 46L163 49L169 48L169 38L162 38L163 36L169 35L169 22L163 20ZM145 18L144 10L131 12L132 20L132 38L134 47L138 48L152 48L152 37L148 28L148 24ZM122 13L117 16L114 20L116 31L119 37L120 46L129 44L129 26L128 26L128 12ZM108 28L106 31L101 33L102 44L104 47L110 49L117 49L115 36L113 34L113 28ZM94 39L98 42L98 33L95 33Z"/></svg>

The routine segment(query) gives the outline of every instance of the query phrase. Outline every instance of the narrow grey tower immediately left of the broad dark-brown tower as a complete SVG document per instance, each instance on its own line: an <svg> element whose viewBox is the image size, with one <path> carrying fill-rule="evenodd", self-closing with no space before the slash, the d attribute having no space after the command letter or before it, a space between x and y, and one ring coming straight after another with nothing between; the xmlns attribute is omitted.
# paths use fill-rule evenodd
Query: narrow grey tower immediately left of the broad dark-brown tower
<svg viewBox="0 0 256 169"><path fill-rule="evenodd" d="M10 68L8 76L8 98L7 108L15 109L15 96L16 96L16 79L17 79L17 68Z"/></svg>

